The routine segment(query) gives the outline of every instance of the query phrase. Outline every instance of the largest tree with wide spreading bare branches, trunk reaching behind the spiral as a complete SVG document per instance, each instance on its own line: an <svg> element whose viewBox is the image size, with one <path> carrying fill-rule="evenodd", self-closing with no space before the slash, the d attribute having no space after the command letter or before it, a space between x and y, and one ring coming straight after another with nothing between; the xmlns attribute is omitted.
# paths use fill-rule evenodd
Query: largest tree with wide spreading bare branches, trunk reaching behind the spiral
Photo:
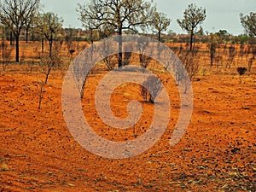
<svg viewBox="0 0 256 192"><path fill-rule="evenodd" d="M137 32L137 27L145 28L150 23L155 8L144 0L91 0L80 4L77 11L80 20L90 20L92 28L111 26L119 34L119 67L122 63L122 34L125 30Z"/></svg>

